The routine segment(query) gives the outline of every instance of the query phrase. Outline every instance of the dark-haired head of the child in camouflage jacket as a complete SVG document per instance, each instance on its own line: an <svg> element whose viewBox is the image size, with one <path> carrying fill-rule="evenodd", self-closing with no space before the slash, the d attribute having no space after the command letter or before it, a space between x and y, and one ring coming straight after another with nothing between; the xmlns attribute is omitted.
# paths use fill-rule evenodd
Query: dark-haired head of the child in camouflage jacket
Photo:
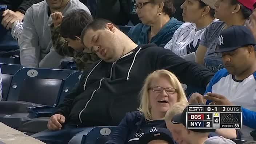
<svg viewBox="0 0 256 144"><path fill-rule="evenodd" d="M76 9L63 17L60 24L60 36L64 37L69 47L76 51L83 51L84 45L80 35L84 27L91 23L92 16L83 9Z"/></svg>

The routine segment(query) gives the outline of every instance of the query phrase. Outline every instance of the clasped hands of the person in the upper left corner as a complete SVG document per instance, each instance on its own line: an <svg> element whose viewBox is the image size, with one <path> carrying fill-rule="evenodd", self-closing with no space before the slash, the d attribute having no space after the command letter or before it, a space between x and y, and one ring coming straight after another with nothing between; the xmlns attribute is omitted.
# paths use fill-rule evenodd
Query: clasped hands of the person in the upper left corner
<svg viewBox="0 0 256 144"><path fill-rule="evenodd" d="M24 18L24 14L19 12L19 11L16 11L16 12L13 12L9 9L5 10L3 12L3 19L1 21L1 24L6 28L6 29L10 29L12 27L12 24L16 21L16 20L19 20L19 21L22 21L23 18Z"/></svg>

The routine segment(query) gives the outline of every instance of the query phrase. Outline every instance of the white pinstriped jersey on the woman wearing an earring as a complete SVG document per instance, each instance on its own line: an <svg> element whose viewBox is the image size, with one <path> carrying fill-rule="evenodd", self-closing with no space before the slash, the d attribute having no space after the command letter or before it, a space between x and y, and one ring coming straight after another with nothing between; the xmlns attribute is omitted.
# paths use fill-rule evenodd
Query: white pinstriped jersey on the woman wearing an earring
<svg viewBox="0 0 256 144"><path fill-rule="evenodd" d="M217 21L214 19L212 22ZM195 52L198 48L206 27L197 29L195 23L182 24L173 34L172 39L164 46L188 61L195 61Z"/></svg>

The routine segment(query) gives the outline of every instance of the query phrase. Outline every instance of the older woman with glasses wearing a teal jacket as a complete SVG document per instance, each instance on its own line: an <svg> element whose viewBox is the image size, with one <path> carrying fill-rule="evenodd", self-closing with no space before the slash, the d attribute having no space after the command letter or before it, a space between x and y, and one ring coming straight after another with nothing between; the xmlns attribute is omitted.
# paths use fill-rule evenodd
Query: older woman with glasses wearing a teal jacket
<svg viewBox="0 0 256 144"><path fill-rule="evenodd" d="M136 0L136 13L142 23L132 27L127 35L138 45L155 43L164 47L183 24L172 17L175 11L173 0Z"/></svg>

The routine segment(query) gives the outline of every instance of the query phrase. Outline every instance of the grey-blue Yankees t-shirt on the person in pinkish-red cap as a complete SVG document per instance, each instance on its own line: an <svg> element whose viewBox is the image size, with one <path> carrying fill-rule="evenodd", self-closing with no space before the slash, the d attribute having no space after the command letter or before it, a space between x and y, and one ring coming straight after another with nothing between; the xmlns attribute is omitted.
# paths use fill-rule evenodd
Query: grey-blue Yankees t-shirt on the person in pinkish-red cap
<svg viewBox="0 0 256 144"><path fill-rule="evenodd" d="M204 35L201 37L200 45L207 47L207 51L204 56L204 65L214 73L224 68L221 60L221 53L213 53L216 50L218 44L218 37L224 28L225 23L223 21L216 21L210 24L204 31Z"/></svg>

